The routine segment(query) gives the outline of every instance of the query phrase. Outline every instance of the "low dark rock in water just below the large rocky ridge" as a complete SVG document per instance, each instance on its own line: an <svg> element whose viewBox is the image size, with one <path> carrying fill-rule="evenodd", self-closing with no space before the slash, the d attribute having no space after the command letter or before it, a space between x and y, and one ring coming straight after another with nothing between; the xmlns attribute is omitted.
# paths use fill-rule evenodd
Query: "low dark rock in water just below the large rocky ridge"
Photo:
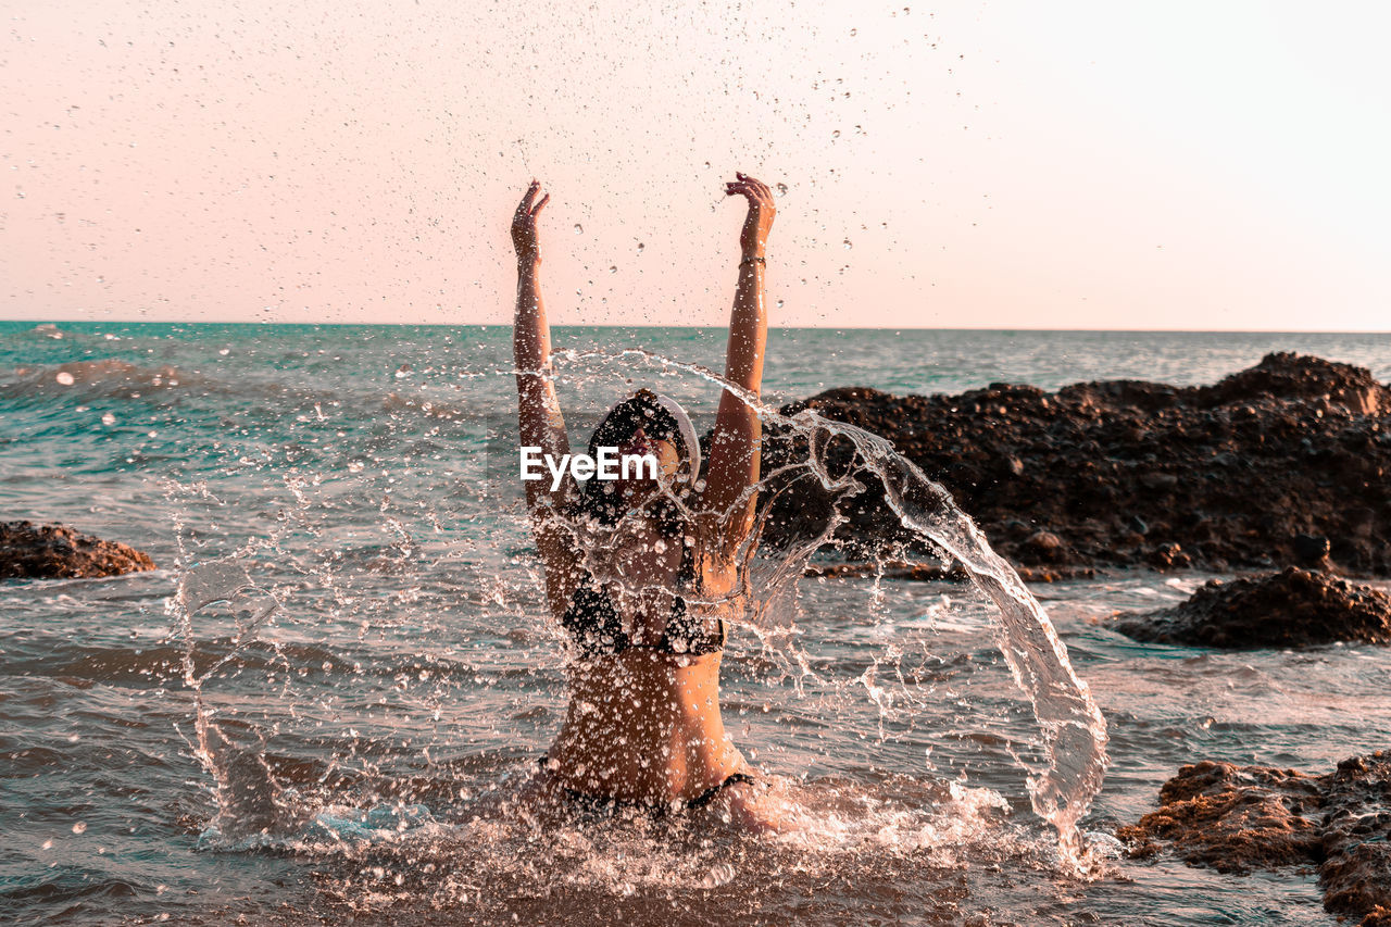
<svg viewBox="0 0 1391 927"><path fill-rule="evenodd" d="M1387 644L1391 596L1289 566L1266 576L1214 579L1173 608L1123 612L1111 626L1135 640L1199 647Z"/></svg>

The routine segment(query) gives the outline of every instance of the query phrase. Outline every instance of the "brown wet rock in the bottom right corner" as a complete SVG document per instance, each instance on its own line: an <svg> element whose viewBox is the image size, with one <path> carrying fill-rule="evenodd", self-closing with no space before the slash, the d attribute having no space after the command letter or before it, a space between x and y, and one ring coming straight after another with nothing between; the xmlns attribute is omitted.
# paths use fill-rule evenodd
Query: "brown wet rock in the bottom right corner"
<svg viewBox="0 0 1391 927"><path fill-rule="evenodd" d="M1316 866L1324 908L1391 924L1391 750L1327 775L1205 760L1166 782L1159 803L1116 834L1132 857L1167 848L1227 873Z"/></svg>

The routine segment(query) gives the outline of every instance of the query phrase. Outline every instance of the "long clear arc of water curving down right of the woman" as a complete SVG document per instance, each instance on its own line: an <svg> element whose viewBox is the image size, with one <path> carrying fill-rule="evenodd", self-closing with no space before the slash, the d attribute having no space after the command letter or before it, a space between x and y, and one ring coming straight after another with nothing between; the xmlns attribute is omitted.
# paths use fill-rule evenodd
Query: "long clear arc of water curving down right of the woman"
<svg viewBox="0 0 1391 927"><path fill-rule="evenodd" d="M1106 774L1106 720L1086 683L1074 672L1067 647L1047 612L940 483L929 479L878 434L828 419L815 409L785 415L764 404L758 395L698 365L672 360L640 348L616 354L568 351L559 352L556 358L563 363L637 359L657 370L680 370L697 376L734 394L757 411L764 423L765 440L771 430L805 443L804 457L764 473L758 486L732 505L734 511L750 494L762 493L762 529L773 511L769 497L812 483L823 501L821 521L804 528L800 536L785 539L776 555L769 557L766 548L758 547L758 532L746 540L740 551L746 566L744 583L733 594L748 600L746 621L753 624L766 626L773 619L779 601L794 592L796 580L805 572L811 557L832 543L836 529L847 521L842 514L844 505L862 496L867 483L879 483L886 504L901 526L925 547L942 551L960 564L971 583L995 604L1000 622L1000 650L1014 682L1034 710L1043 738L1046 761L1031 764L1021 760L1028 772L1031 805L1035 813L1057 830L1063 862L1079 871L1088 867L1077 824L1100 791ZM839 473L830 452L836 438L849 441L854 451L853 462L842 465ZM843 455L837 455L840 458ZM680 502L675 497L669 498ZM867 683L867 690L874 697L872 679Z"/></svg>

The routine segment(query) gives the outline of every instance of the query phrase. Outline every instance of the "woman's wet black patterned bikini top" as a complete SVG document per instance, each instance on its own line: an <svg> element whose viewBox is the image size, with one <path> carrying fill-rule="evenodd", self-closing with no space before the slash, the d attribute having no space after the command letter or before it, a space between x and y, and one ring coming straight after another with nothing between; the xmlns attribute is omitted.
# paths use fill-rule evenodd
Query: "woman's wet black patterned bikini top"
<svg viewBox="0 0 1391 927"><path fill-rule="evenodd" d="M677 587L689 586L694 576L696 557L691 547L684 544ZM672 597L672 614L666 619L662 639L655 644L633 643L623 631L623 621L613 607L613 597L595 583L587 571L570 596L570 604L561 615L561 624L574 637L583 660L613 656L636 647L657 653L701 656L723 650L726 637L723 619L716 619L718 631L711 632L711 622L689 614L686 599L676 594Z"/></svg>

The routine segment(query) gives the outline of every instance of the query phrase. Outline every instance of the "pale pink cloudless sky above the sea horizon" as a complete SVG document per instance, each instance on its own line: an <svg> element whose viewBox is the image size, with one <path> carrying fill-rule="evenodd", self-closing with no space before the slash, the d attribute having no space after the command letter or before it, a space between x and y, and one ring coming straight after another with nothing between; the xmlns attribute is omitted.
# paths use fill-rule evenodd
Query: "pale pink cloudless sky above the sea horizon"
<svg viewBox="0 0 1391 927"><path fill-rule="evenodd" d="M0 8L0 317L1391 330L1385 3Z"/></svg>

